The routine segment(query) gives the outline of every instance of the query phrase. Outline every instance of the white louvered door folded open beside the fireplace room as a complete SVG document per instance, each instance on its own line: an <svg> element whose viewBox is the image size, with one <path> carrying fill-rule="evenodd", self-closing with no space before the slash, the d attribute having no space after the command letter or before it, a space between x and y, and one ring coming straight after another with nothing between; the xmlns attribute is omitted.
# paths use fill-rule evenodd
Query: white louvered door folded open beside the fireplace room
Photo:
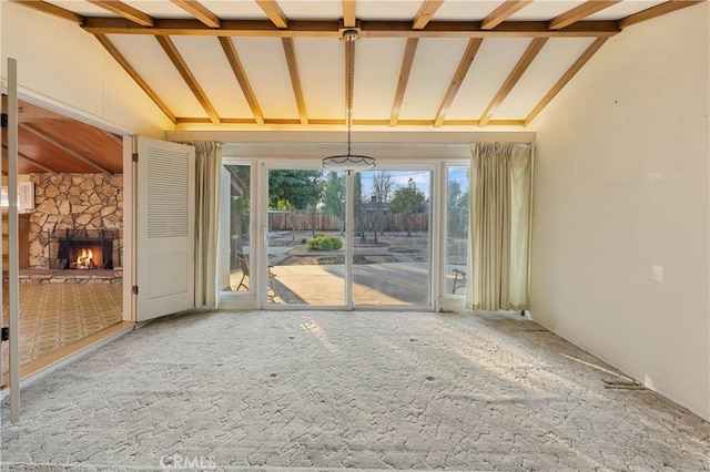
<svg viewBox="0 0 710 472"><path fill-rule="evenodd" d="M138 320L193 308L195 150L139 137Z"/></svg>

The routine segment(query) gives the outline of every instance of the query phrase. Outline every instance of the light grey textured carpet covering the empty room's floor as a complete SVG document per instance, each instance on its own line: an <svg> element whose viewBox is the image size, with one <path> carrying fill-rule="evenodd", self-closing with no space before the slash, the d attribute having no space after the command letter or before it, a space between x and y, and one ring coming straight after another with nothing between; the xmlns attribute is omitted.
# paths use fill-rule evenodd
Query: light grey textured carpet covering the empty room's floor
<svg viewBox="0 0 710 472"><path fill-rule="evenodd" d="M709 424L623 381L517 315L183 315L28 387L17 425L3 400L0 452L19 470L710 470Z"/></svg>

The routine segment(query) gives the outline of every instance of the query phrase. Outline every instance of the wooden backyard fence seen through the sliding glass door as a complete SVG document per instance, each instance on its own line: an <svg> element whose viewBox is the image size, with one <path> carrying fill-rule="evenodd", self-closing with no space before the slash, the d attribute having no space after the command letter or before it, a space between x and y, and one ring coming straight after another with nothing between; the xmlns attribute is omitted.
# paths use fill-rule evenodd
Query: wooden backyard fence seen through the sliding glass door
<svg viewBox="0 0 710 472"><path fill-rule="evenodd" d="M343 220L337 216L320 212L268 212L268 229L275 232L308 230L338 232ZM402 213L368 212L355 217L357 230L371 232L427 232L429 228L428 213L404 215Z"/></svg>

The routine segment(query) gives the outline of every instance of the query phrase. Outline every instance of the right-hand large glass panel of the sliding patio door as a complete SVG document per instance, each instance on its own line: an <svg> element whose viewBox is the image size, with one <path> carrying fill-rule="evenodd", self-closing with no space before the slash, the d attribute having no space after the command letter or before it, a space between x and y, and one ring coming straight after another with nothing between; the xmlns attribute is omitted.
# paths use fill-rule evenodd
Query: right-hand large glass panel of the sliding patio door
<svg viewBox="0 0 710 472"><path fill-rule="evenodd" d="M354 175L353 301L430 306L432 172Z"/></svg>

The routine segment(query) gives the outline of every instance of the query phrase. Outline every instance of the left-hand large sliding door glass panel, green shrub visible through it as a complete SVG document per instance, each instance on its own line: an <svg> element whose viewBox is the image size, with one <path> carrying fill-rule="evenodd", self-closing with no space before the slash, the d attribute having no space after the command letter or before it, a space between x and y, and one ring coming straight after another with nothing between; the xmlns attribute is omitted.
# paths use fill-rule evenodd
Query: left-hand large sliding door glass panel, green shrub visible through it
<svg viewBox="0 0 710 472"><path fill-rule="evenodd" d="M345 174L320 168L267 172L266 302L346 305Z"/></svg>

